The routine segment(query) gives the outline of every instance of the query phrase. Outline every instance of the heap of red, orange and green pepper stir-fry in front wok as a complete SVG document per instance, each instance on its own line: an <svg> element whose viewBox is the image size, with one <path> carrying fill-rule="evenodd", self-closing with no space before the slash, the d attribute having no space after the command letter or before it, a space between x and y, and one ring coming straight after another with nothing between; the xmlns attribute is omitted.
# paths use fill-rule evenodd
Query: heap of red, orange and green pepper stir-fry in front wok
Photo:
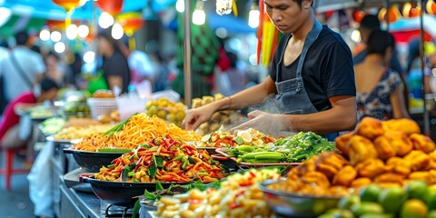
<svg viewBox="0 0 436 218"><path fill-rule="evenodd" d="M112 164L103 166L95 178L133 183L212 183L226 173L225 167L214 161L207 151L173 140L167 134L114 159Z"/></svg>

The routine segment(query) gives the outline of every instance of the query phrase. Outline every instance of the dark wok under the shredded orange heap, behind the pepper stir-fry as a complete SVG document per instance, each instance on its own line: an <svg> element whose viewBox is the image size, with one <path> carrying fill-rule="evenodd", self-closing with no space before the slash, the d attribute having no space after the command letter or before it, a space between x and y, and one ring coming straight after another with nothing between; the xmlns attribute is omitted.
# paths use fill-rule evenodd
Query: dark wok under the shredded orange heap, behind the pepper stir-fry
<svg viewBox="0 0 436 218"><path fill-rule="evenodd" d="M80 166L86 168L88 172L100 172L102 166L107 166L124 153L97 153L84 152L70 148L64 149L64 154L73 154L74 160Z"/></svg>

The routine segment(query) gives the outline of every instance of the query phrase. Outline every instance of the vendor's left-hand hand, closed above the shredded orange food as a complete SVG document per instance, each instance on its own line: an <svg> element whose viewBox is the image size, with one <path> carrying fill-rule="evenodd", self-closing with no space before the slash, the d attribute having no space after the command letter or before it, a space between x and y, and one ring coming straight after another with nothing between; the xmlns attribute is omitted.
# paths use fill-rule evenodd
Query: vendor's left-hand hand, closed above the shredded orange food
<svg viewBox="0 0 436 218"><path fill-rule="evenodd" d="M209 121L215 110L210 105L189 110L183 119L183 128L185 130L195 130L200 124Z"/></svg>

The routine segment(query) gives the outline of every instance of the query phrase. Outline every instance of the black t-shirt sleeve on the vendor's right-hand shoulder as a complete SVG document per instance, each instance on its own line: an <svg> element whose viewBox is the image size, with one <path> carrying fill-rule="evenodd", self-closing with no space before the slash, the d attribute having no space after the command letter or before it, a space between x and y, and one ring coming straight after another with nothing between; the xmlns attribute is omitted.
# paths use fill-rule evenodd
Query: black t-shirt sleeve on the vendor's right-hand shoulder
<svg viewBox="0 0 436 218"><path fill-rule="evenodd" d="M327 50L322 76L327 96L356 95L352 53L342 40L333 43Z"/></svg>

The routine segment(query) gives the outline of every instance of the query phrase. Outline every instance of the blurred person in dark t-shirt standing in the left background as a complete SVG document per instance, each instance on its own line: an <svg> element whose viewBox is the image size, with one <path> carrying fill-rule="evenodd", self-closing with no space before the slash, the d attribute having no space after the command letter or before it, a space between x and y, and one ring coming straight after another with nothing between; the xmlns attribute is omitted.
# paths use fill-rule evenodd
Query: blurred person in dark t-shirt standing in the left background
<svg viewBox="0 0 436 218"><path fill-rule="evenodd" d="M123 93L127 93L131 75L127 59L121 53L118 42L107 31L98 34L97 42L98 52L103 55L101 70L108 88L113 90L118 86Z"/></svg>

